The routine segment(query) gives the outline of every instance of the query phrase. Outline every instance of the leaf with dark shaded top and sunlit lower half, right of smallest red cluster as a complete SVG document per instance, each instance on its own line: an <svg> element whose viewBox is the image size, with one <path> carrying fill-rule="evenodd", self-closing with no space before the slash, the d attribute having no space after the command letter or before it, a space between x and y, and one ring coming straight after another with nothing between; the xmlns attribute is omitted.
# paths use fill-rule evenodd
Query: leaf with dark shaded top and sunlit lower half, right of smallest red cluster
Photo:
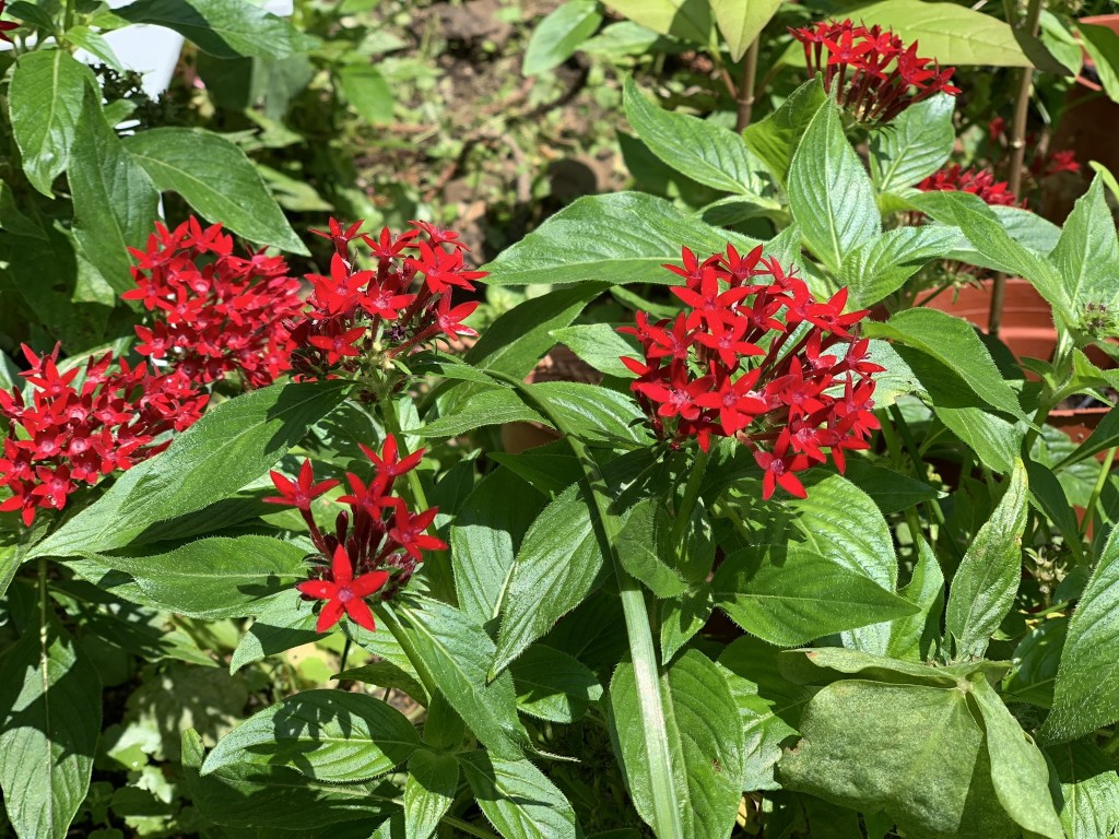
<svg viewBox="0 0 1119 839"><path fill-rule="evenodd" d="M517 552L544 498L508 469L481 480L451 527L459 607L486 626L500 611Z"/></svg>

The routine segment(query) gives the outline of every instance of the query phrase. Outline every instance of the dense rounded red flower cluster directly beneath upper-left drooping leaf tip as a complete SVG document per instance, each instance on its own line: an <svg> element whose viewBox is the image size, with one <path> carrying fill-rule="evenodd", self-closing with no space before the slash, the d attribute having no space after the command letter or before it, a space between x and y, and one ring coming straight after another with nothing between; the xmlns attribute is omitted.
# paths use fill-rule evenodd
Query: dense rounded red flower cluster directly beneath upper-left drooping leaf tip
<svg viewBox="0 0 1119 839"><path fill-rule="evenodd" d="M252 388L288 370L291 350L281 319L303 304L283 257L234 256L222 225L203 228L194 217L173 232L157 221L148 247L129 251L139 261L132 268L137 287L122 296L143 301L156 315L150 327L135 328L140 355L192 380L238 371Z"/></svg>

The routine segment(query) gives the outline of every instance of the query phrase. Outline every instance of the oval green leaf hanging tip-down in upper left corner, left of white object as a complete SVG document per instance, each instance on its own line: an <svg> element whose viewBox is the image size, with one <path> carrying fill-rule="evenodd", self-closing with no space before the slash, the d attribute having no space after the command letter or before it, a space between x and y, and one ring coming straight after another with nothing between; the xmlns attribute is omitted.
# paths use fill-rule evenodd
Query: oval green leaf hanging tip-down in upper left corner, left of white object
<svg viewBox="0 0 1119 839"><path fill-rule="evenodd" d="M11 131L27 179L48 198L69 166L85 92L95 88L90 68L64 49L39 49L16 62L8 88Z"/></svg>

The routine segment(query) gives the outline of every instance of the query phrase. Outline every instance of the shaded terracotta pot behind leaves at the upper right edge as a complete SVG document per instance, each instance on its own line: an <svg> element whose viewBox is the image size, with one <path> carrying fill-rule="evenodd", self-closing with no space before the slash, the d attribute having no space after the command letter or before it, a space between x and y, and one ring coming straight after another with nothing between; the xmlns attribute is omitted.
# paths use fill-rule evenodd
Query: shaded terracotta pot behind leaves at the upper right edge
<svg viewBox="0 0 1119 839"><path fill-rule="evenodd" d="M1119 15L1081 18L1080 22L1106 26L1119 35ZM1087 53L1084 66L1094 66ZM1065 95L1064 110L1056 131L1050 139L1049 151L1052 153L1071 149L1076 152L1082 173L1088 170L1089 160L1096 160L1110 171L1119 172L1116 125L1119 125L1119 104L1109 100L1101 92L1100 85L1082 73ZM1087 171L1085 177L1057 175L1047 178L1043 185L1041 214L1051 221L1064 221L1076 199L1087 189L1089 177L1091 170Z"/></svg>

